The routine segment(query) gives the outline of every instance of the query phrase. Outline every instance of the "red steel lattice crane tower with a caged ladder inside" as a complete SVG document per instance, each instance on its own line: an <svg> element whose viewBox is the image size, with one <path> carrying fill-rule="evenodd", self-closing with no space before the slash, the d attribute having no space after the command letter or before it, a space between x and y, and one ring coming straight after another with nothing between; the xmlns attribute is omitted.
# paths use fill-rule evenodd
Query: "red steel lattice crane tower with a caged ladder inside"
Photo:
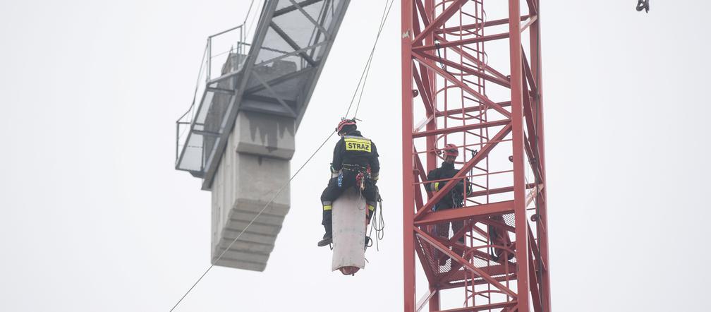
<svg viewBox="0 0 711 312"><path fill-rule="evenodd" d="M538 4L402 2L406 312L550 311ZM461 170L429 192L447 143ZM432 211L458 181L464 207Z"/></svg>

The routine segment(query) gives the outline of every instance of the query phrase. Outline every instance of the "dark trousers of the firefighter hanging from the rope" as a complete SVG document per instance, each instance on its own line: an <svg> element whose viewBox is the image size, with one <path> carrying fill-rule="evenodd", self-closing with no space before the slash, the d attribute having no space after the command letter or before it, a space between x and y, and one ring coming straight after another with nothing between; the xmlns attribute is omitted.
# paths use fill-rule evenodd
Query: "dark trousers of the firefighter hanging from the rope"
<svg viewBox="0 0 711 312"><path fill-rule="evenodd" d="M326 233L331 232L331 205L338 197L343 194L349 187L359 187L356 185L355 176L358 172L351 170L343 170L343 179L341 180L341 187L338 187L338 177L333 177L328 180L328 186L321 193L321 204L324 205L324 215L321 220L321 224L324 225ZM373 212L375 210L375 204L378 202L378 187L375 186L373 181L365 178L365 188L361 192L363 197L365 197L365 202L368 204L368 222L370 218L373 217Z"/></svg>

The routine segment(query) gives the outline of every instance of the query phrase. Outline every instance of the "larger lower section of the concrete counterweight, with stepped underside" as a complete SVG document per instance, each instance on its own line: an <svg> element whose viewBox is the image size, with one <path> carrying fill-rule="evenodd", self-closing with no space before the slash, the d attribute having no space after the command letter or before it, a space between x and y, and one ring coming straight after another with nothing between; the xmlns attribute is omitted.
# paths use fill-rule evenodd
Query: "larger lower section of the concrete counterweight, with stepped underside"
<svg viewBox="0 0 711 312"><path fill-rule="evenodd" d="M289 186L269 203L289 181L289 160L232 152L223 162L213 184L212 263L264 271L289 212Z"/></svg>

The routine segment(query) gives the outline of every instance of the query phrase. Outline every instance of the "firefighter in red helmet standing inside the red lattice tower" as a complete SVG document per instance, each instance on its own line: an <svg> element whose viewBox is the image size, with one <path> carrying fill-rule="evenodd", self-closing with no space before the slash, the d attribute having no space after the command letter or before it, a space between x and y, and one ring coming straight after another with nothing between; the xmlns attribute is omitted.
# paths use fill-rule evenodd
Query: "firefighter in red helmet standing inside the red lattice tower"
<svg viewBox="0 0 711 312"><path fill-rule="evenodd" d="M429 190L430 192L438 192L444 187L444 185L447 184L447 182L449 182L446 179L451 179L457 174L457 172L459 172L459 170L454 169L454 161L456 160L456 157L459 156L459 150L457 150L456 145L444 145L442 153L444 156L444 162L442 162L442 166L427 173L427 181L444 181L426 182L424 184L424 187L426 187L427 190ZM451 191L449 191L449 193L445 194L444 197L442 197L442 199L434 205L434 207L432 208L433 211L462 207L465 196L464 190L466 189L466 195L471 194L471 185L469 184L469 180L464 179L452 182L456 184L454 185L454 187L451 188ZM434 234L440 237L444 237L445 239L449 239L450 224L452 232L454 233L459 232L459 230L464 227L464 221L462 220L454 222L443 222L435 224ZM459 237L458 241L460 244L464 244L464 236ZM461 250L459 251L459 253L462 254ZM441 266L443 266L445 262L447 262L447 256L444 256L439 252L435 253L435 258L439 258L439 265Z"/></svg>

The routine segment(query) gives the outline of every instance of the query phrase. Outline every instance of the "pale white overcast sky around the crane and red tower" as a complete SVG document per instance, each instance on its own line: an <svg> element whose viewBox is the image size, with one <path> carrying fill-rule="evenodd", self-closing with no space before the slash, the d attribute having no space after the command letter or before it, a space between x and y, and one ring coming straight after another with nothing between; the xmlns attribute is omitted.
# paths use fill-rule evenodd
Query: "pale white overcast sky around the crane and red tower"
<svg viewBox="0 0 711 312"><path fill-rule="evenodd" d="M382 3L351 1L292 168L345 112ZM542 1L555 311L707 306L711 4L635 4ZM205 37L247 5L0 3L1 311L168 311L209 265L210 197L173 170L174 122ZM292 184L267 271L215 267L177 311L402 309L399 11L360 113L383 164L382 250L344 277L315 246L328 147Z"/></svg>

